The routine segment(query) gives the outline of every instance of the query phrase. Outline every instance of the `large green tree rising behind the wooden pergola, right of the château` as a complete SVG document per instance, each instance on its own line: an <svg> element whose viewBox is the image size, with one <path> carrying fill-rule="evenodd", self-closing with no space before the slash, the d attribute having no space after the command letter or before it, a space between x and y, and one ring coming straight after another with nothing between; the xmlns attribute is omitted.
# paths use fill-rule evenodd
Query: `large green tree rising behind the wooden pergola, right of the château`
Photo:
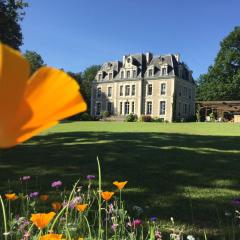
<svg viewBox="0 0 240 240"><path fill-rule="evenodd" d="M223 39L214 65L200 76L197 99L240 99L240 27Z"/></svg>

